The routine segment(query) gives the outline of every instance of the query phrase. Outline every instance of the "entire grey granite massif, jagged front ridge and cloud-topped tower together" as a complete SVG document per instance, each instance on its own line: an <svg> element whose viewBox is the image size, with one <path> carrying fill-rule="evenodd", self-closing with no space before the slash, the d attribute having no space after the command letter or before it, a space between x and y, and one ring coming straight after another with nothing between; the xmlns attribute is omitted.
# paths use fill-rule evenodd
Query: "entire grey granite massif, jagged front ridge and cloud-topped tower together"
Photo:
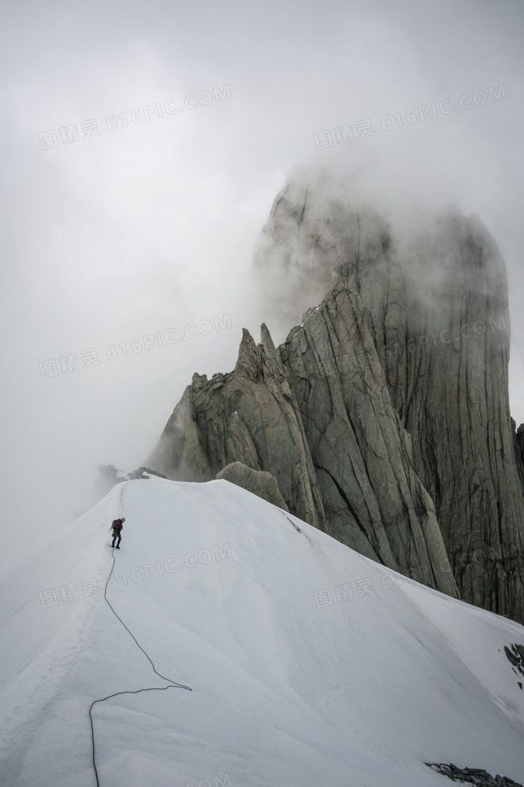
<svg viewBox="0 0 524 787"><path fill-rule="evenodd" d="M353 549L524 620L524 429L482 223L397 226L291 183L255 270L268 315L300 324L278 348L265 325L258 345L244 331L234 371L194 375L147 464L268 471L290 512Z"/></svg>

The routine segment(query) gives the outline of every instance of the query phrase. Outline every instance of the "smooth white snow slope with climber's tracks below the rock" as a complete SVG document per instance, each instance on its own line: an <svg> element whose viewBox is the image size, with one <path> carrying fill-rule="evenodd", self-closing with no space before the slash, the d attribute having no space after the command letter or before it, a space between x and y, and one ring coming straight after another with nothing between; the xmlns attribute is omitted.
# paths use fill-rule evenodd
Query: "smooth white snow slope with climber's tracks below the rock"
<svg viewBox="0 0 524 787"><path fill-rule="evenodd" d="M227 481L151 479L116 486L0 582L2 784L96 785L90 704L169 685L104 600L118 514L107 597L192 690L94 705L101 787L448 783L424 761L524 780L524 691L504 655L522 626Z"/></svg>

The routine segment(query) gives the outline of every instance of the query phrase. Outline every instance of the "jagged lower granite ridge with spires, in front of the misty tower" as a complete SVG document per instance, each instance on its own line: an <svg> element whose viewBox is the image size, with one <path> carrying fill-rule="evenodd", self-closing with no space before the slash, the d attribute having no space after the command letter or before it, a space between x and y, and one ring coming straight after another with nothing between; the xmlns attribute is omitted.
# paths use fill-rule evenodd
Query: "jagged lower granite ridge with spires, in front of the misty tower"
<svg viewBox="0 0 524 787"><path fill-rule="evenodd" d="M361 331L354 348L352 331ZM258 345L244 330L234 370L194 375L148 459L180 480L215 478L232 462L275 476L286 508L306 522L456 596L433 501L347 290L278 350L265 325Z"/></svg>

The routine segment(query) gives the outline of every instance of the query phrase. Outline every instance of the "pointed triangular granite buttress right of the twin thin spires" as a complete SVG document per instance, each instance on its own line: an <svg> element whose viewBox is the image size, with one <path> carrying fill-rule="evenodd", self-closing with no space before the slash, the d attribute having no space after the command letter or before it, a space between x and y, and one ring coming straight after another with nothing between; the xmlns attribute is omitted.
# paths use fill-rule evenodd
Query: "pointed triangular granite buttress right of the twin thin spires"
<svg viewBox="0 0 524 787"><path fill-rule="evenodd" d="M434 504L359 298L330 292L280 349L334 537L455 594Z"/></svg>

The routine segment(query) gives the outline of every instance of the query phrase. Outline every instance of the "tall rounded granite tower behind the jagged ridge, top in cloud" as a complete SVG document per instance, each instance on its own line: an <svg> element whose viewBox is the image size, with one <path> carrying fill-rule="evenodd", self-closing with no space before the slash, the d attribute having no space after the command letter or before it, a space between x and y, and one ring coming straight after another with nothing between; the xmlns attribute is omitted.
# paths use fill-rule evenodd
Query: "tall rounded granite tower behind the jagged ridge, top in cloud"
<svg viewBox="0 0 524 787"><path fill-rule="evenodd" d="M522 621L524 427L515 436L509 410L504 260L475 217L396 222L316 187L288 184L264 227L268 315L290 283L299 306L328 287L358 298L461 597Z"/></svg>

